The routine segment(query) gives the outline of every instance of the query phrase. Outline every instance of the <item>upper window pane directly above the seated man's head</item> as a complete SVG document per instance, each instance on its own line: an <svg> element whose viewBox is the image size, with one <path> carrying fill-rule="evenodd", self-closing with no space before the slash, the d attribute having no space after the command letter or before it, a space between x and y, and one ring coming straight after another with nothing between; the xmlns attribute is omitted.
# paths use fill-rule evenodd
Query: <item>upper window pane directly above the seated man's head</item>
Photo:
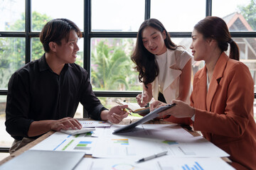
<svg viewBox="0 0 256 170"><path fill-rule="evenodd" d="M44 24L53 18L68 18L83 31L83 2L83 0L31 0L32 30L41 31Z"/></svg>

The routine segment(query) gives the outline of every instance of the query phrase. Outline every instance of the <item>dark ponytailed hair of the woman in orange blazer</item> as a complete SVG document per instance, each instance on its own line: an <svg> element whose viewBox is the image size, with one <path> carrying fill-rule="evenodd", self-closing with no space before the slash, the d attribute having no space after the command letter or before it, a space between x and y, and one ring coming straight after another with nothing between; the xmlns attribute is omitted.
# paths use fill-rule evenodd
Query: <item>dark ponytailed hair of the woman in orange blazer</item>
<svg viewBox="0 0 256 170"><path fill-rule="evenodd" d="M239 61L239 48L237 43L231 38L228 26L222 18L216 16L207 16L199 21L194 29L198 33L203 34L203 38L213 38L218 42L218 47L222 52L228 50L228 43L230 44L230 59Z"/></svg>

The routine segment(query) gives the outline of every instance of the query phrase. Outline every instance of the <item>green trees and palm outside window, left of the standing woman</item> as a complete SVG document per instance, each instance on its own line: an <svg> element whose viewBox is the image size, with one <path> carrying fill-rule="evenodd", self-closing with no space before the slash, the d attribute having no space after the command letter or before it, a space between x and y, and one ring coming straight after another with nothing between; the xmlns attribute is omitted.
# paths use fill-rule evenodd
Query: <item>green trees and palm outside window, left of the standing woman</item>
<svg viewBox="0 0 256 170"><path fill-rule="evenodd" d="M41 30L52 18L36 11L32 13L32 30ZM25 14L8 28L23 30ZM111 44L110 44L110 42ZM100 40L92 52L92 84L94 90L141 90L138 86L137 72L130 60L132 48L131 39ZM40 58L44 51L39 38L32 38L31 60ZM0 88L7 88L11 74L25 64L25 38L0 38ZM78 52L75 63L82 66L82 52Z"/></svg>

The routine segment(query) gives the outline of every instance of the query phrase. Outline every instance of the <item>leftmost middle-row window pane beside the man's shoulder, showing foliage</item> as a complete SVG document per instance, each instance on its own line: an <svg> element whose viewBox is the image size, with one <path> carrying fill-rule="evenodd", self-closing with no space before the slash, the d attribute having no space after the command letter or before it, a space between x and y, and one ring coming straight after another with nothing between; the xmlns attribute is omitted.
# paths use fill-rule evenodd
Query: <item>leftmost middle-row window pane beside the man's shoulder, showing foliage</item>
<svg viewBox="0 0 256 170"><path fill-rule="evenodd" d="M0 89L7 89L11 74L25 64L25 38L0 38Z"/></svg>

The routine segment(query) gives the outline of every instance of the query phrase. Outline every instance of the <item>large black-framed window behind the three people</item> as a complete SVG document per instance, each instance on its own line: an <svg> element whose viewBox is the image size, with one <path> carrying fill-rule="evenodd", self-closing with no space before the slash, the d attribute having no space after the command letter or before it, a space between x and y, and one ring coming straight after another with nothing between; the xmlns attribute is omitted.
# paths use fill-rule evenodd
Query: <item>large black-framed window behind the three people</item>
<svg viewBox="0 0 256 170"><path fill-rule="evenodd" d="M0 147L12 142L4 125L9 78L43 55L38 36L52 18L68 18L82 30L76 63L87 69L95 94L110 108L118 98L134 98L142 90L130 55L147 18L159 19L188 52L198 21L223 18L256 83L255 6L255 0L0 0ZM203 62L193 62L193 74L201 67ZM77 117L86 116L82 110L79 106Z"/></svg>

